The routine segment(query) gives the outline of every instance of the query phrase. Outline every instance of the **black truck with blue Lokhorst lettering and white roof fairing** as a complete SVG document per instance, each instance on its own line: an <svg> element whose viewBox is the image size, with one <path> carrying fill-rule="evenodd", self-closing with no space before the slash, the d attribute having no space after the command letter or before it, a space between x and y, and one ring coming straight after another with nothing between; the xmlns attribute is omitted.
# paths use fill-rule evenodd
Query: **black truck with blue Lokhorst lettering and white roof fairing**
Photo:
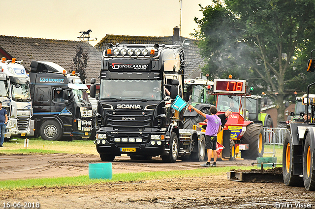
<svg viewBox="0 0 315 209"><path fill-rule="evenodd" d="M32 61L31 133L44 140L89 138L92 131L92 105L88 87L75 75L53 62Z"/></svg>

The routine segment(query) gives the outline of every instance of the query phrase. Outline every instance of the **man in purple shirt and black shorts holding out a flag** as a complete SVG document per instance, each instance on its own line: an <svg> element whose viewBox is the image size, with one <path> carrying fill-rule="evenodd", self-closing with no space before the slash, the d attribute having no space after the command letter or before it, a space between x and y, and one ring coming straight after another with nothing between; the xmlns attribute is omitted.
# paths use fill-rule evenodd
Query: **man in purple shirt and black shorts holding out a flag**
<svg viewBox="0 0 315 209"><path fill-rule="evenodd" d="M208 152L208 161L205 164L201 164L202 167L217 167L217 134L221 131L221 119L218 117L218 109L215 106L210 107L210 112L212 115L205 114L199 109L194 108L190 105L190 108L195 110L196 113L202 115L208 120L206 128L206 150ZM213 152L213 163L210 164Z"/></svg>

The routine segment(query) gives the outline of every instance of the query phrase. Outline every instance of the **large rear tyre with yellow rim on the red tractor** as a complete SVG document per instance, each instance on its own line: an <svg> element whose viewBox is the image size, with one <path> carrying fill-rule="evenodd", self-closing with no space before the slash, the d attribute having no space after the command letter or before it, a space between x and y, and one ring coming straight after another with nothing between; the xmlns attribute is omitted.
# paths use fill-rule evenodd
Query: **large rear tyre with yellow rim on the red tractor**
<svg viewBox="0 0 315 209"><path fill-rule="evenodd" d="M242 150L244 159L256 159L264 154L264 130L261 125L251 123L241 138L242 144L249 144L249 150Z"/></svg>

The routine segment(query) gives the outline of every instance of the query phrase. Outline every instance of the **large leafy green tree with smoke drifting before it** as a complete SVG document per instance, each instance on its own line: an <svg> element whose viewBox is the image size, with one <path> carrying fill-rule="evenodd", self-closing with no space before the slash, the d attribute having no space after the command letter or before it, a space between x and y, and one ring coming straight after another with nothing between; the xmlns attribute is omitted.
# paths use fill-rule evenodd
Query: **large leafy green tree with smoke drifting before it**
<svg viewBox="0 0 315 209"><path fill-rule="evenodd" d="M308 84L302 60L315 47L315 1L212 0L200 8L204 17L195 18L200 30L193 35L201 40L203 71L212 78L247 79L267 93L284 120L284 100Z"/></svg>

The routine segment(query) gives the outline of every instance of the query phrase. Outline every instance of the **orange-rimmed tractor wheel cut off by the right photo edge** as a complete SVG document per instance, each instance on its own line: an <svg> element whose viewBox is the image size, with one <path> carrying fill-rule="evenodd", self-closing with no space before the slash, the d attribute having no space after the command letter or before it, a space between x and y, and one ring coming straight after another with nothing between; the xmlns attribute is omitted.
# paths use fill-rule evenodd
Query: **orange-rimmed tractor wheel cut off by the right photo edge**
<svg viewBox="0 0 315 209"><path fill-rule="evenodd" d="M303 179L306 190L315 190L315 171L313 167L314 147L312 147L310 132L307 133L303 152Z"/></svg>

